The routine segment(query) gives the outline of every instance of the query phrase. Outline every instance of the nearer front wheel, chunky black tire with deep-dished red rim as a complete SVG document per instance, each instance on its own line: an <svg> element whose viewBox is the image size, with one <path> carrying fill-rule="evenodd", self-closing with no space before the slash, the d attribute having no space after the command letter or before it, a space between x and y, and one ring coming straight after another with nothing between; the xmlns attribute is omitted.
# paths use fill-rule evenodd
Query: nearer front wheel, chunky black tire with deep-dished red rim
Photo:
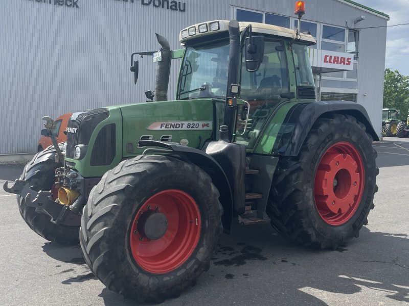
<svg viewBox="0 0 409 306"><path fill-rule="evenodd" d="M209 268L222 231L218 197L195 165L165 156L122 162L83 210L89 268L110 290L139 301L179 295Z"/></svg>

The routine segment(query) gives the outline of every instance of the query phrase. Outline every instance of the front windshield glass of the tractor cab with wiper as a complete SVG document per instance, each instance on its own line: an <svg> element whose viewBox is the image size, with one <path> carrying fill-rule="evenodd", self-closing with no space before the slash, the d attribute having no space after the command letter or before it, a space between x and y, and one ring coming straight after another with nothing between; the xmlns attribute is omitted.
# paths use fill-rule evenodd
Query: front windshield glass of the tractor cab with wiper
<svg viewBox="0 0 409 306"><path fill-rule="evenodd" d="M177 98L225 98L228 70L229 41L187 47Z"/></svg>

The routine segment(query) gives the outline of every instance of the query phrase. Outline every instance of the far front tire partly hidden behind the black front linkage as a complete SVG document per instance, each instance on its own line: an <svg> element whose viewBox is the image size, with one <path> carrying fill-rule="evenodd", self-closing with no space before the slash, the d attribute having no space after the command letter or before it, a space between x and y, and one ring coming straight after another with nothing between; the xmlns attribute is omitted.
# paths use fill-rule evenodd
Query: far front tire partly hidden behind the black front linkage
<svg viewBox="0 0 409 306"><path fill-rule="evenodd" d="M20 179L28 182L35 191L50 191L55 183L55 169L61 164L55 162L55 149L37 153L26 165ZM26 205L26 201L17 196L18 209L27 225L38 235L49 241L61 244L79 243L79 226L66 226L51 222L50 216L37 213L35 208Z"/></svg>

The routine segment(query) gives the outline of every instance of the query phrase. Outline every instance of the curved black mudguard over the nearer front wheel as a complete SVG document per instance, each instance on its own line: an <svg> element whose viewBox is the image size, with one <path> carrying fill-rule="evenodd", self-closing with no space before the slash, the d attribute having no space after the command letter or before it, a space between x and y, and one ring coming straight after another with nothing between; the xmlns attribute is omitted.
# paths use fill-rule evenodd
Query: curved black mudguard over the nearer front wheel
<svg viewBox="0 0 409 306"><path fill-rule="evenodd" d="M223 215L221 217L223 231L228 234L230 233L230 228L232 226L233 220L233 195L226 174L214 158L199 149L183 146L177 143L154 140L140 140L139 145L166 148L166 151L157 148L148 148L144 151L144 154L147 151L172 154L176 158L179 157L179 159L197 165L203 171L208 173L212 179L213 184L220 192L219 199L223 207Z"/></svg>

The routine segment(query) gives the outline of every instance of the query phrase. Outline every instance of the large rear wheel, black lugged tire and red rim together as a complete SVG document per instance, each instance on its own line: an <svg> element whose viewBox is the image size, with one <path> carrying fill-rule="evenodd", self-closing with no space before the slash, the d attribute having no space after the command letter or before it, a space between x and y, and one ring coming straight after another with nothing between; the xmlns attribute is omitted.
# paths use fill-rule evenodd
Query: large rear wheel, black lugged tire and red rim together
<svg viewBox="0 0 409 306"><path fill-rule="evenodd" d="M328 116L314 123L297 157L280 158L267 214L285 238L336 249L367 224L379 170L365 125Z"/></svg>

